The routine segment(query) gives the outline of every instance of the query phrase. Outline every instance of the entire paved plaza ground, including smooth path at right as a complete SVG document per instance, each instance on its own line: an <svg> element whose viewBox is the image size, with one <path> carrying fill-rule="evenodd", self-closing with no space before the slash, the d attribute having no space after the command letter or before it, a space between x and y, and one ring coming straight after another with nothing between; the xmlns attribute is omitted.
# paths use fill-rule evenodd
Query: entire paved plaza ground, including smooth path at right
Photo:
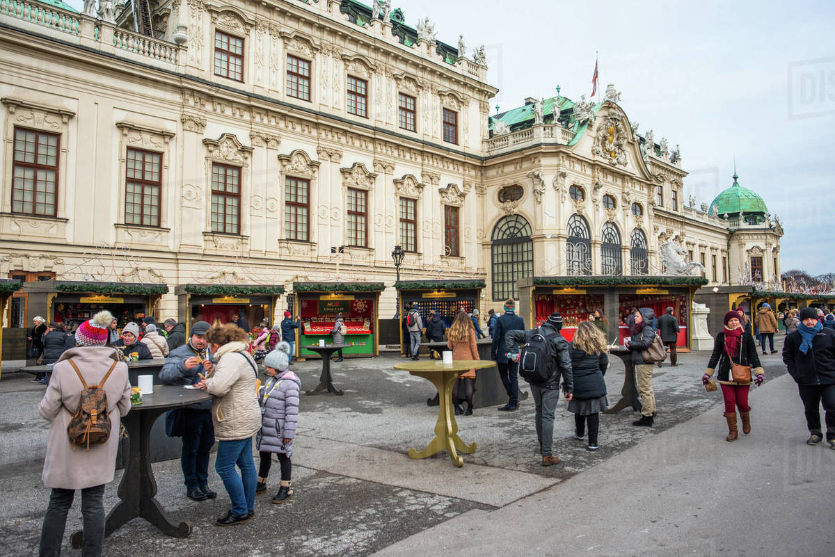
<svg viewBox="0 0 835 557"><path fill-rule="evenodd" d="M348 359L334 364L344 396L301 397L288 503L260 495L255 519L218 528L229 500L214 469L210 484L219 497L196 503L185 498L179 460L154 464L157 498L190 520L193 534L169 538L135 519L109 537L105 554L835 554L835 451L803 443L802 405L779 354L763 358L767 383L751 393L754 431L733 444L724 441L721 395L701 386L708 355L683 354L679 367L656 369L655 428L631 426L631 410L605 415L595 453L574 439L573 415L562 404L554 427L562 463L549 468L535 454L531 399L515 413L488 407L459 416L462 439L478 444L462 469L446 453L407 457L433 436L438 409L425 402L431 384L392 369L402 361L396 355ZM294 369L312 388L321 362ZM620 398L623 374L613 359L610 404ZM49 495L40 479L43 387L29 378L4 374L0 381L2 555L37 553ZM107 509L120 475L105 493ZM79 527L77 501L68 534ZM63 554L79 553L67 539Z"/></svg>

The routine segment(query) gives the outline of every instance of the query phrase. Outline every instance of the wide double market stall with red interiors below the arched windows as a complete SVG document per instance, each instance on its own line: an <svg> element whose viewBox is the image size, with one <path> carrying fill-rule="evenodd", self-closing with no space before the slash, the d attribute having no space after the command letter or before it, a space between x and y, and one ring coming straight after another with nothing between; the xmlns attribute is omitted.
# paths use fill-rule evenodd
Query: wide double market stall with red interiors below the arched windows
<svg viewBox="0 0 835 557"><path fill-rule="evenodd" d="M519 280L519 315L538 327L549 314L563 317L563 336L574 339L577 326L600 310L609 322L606 340L623 344L629 336L624 322L633 308L651 308L657 316L673 308L681 333L678 345L690 345L690 308L694 292L706 284L701 277L534 277Z"/></svg>

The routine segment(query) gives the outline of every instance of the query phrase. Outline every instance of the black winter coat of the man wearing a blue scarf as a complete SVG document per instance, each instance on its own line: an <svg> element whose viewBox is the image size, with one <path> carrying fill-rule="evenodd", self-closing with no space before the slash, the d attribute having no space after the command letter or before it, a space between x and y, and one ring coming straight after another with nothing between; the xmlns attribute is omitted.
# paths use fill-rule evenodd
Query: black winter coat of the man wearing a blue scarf
<svg viewBox="0 0 835 557"><path fill-rule="evenodd" d="M835 384L835 331L824 327L812 339L812 349L800 351L799 331L788 334L783 344L783 363L799 385Z"/></svg>

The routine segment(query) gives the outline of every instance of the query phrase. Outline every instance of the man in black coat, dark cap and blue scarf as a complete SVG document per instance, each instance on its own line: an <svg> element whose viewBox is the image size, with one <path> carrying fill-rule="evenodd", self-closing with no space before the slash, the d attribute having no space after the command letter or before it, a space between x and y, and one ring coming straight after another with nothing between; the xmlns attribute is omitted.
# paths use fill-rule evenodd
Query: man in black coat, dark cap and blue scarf
<svg viewBox="0 0 835 557"><path fill-rule="evenodd" d="M823 440L819 408L823 403L827 444L835 449L835 330L822 326L816 309L803 308L797 331L786 337L782 355L803 401L809 428L806 443L821 444Z"/></svg>

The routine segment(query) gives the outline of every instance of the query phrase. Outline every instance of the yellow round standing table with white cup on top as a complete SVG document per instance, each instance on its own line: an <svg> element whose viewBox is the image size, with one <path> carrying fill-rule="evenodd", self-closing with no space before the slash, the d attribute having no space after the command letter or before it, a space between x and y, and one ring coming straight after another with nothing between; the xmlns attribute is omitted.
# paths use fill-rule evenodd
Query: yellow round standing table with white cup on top
<svg viewBox="0 0 835 557"><path fill-rule="evenodd" d="M455 422L453 412L453 385L458 377L469 369L492 368L496 363L489 359L461 359L453 361L452 364L443 364L438 360L428 362L406 362L397 364L394 369L402 369L409 374L427 379L440 394L441 404L438 404L438 421L435 422L435 439L433 439L423 450L409 449L409 457L412 459L425 459L439 451L446 450L449 458L453 460L458 468L464 465L456 449L463 454L473 454L475 443L464 444L458 437L458 424Z"/></svg>

